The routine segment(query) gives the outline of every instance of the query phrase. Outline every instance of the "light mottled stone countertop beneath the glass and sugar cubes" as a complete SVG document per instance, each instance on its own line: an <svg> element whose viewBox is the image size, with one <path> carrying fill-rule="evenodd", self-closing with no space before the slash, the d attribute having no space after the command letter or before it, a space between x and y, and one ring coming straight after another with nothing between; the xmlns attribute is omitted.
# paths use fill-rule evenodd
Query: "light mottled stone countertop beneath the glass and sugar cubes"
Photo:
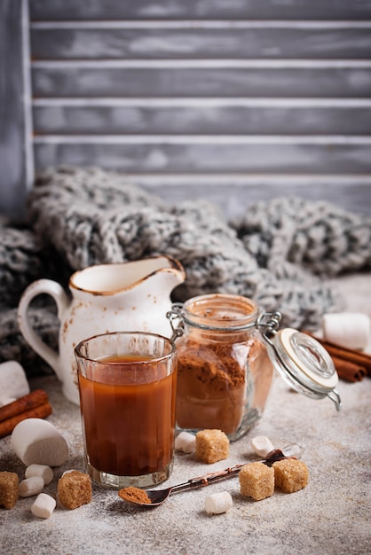
<svg viewBox="0 0 371 555"><path fill-rule="evenodd" d="M346 295L347 309L371 316L369 275L336 284ZM69 445L67 463L54 469L54 480L43 489L56 497L64 471L84 471L80 413L64 398L55 377L32 379L30 387L46 390L53 408L48 419ZM303 446L310 481L301 491L276 490L272 497L256 502L241 496L238 477L230 477L173 494L162 506L141 508L122 502L115 490L93 485L91 504L68 511L57 502L47 520L31 513L34 497L20 498L13 509L0 509L0 553L366 555L371 552L371 379L340 380L337 390L343 403L340 411L328 398L315 401L294 393L277 377L263 418L249 434L231 443L227 460L205 465L193 455L177 452L170 479L163 484L249 462L250 439L264 434L275 447L289 442ZM0 470L16 472L20 480L24 477L25 466L12 452L10 436L0 440ZM204 511L205 498L219 491L230 492L233 507L209 515Z"/></svg>

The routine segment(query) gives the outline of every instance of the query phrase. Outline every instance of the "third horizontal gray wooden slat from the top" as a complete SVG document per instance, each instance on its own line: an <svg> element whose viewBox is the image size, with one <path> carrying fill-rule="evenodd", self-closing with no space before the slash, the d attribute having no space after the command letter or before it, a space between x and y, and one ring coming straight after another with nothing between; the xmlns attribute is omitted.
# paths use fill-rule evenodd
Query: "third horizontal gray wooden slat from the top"
<svg viewBox="0 0 371 555"><path fill-rule="evenodd" d="M366 63L365 63L366 64ZM369 66L52 66L32 69L38 97L369 98Z"/></svg>

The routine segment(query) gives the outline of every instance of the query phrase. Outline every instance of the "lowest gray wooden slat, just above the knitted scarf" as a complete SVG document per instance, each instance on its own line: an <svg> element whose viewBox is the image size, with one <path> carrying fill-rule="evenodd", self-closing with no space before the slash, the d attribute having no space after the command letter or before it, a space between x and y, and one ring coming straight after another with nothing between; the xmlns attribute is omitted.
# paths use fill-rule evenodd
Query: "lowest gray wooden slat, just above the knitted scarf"
<svg viewBox="0 0 371 555"><path fill-rule="evenodd" d="M321 199L344 210L369 215L371 176L140 176L126 175L170 204L186 199L207 199L233 221L246 207L261 200L301 197Z"/></svg>

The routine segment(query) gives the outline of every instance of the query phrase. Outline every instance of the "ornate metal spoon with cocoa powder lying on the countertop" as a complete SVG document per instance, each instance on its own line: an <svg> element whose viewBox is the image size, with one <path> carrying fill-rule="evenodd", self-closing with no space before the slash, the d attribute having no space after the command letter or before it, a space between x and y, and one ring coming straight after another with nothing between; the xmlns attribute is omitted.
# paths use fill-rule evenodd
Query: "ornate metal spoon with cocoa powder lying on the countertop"
<svg viewBox="0 0 371 555"><path fill-rule="evenodd" d="M266 458L261 459L260 462L264 463L265 465L271 466L274 462L282 460L283 458L290 457L286 457L280 449L274 449L271 451L271 453L268 453ZM188 480L182 484L171 486L170 488L166 489L123 488L120 489L118 495L124 501L128 501L131 504L137 504L142 507L158 507L158 505L166 501L171 493L176 493L177 491L182 491L184 489L195 489L201 488L202 486L209 486L209 484L213 483L214 481L219 481L223 480L224 478L229 478L230 476L235 476L240 472L242 466L245 466L246 464L247 463L243 463L242 465L235 465L215 473L205 474L204 476L199 476L198 478L191 478L191 480ZM129 493L128 490L130 490L134 494L135 490L137 490L138 494L146 494L149 498L149 501L147 503L143 503L139 501L136 496L127 495Z"/></svg>

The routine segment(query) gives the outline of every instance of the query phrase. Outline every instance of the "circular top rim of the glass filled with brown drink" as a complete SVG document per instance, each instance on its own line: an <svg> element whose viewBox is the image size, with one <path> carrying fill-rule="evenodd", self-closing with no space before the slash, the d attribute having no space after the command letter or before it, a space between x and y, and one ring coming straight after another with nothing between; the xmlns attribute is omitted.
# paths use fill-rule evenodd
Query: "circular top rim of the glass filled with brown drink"
<svg viewBox="0 0 371 555"><path fill-rule="evenodd" d="M164 335L160 335L159 333L154 333L154 332L140 332L140 331L134 331L134 332L130 332L130 331L126 331L126 332L107 332L107 333L97 333L96 335L91 335L91 337L88 337L84 340L81 340L75 347L74 351L75 351L75 356L83 359L85 361L89 361L91 363L95 363L95 364L107 364L107 362L104 361L103 358L91 358L90 356L86 356L82 353L82 349L85 345L87 345L89 342L93 341L93 340L99 340L105 337L114 337L114 336L130 336L130 335L139 335L142 337L151 337L154 339L159 339L162 340L164 344L169 345L170 347L170 351L169 353L166 353L165 355L162 356L154 356L151 357L147 360L136 360L135 363L136 364L149 364L149 363L155 363L155 362L160 362L163 361L167 358L170 358L171 356L174 356L174 354L176 354L177 352L177 348L176 345L174 344L174 342L172 340L170 340L170 338L165 337ZM124 353L122 354L124 355ZM133 361L110 361L109 364L114 365L120 365L120 366L125 366L125 365L132 365Z"/></svg>

